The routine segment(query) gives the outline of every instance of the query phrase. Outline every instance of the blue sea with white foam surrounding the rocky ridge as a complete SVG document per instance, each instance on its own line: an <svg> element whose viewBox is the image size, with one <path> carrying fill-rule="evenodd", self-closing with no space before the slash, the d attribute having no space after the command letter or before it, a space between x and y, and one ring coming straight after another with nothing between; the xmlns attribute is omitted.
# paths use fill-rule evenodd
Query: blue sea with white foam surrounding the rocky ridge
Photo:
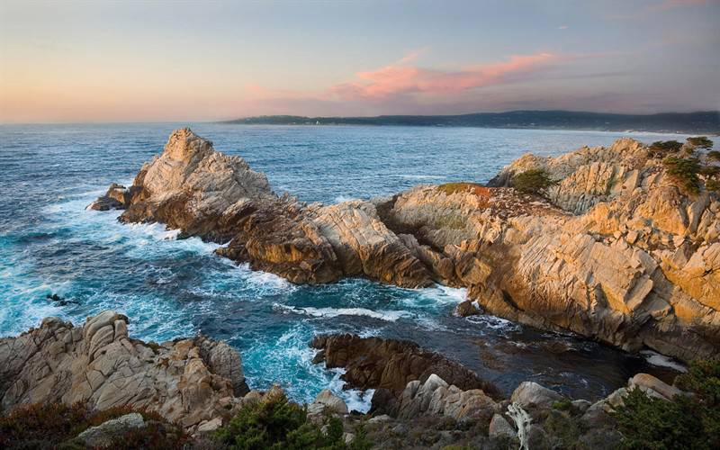
<svg viewBox="0 0 720 450"><path fill-rule="evenodd" d="M111 182L129 184L184 124L0 126L0 336L40 319L80 323L108 308L130 333L162 341L201 331L238 348L253 388L283 384L310 400L339 373L311 364L320 332L409 338L473 368L510 392L535 380L597 398L626 383L644 358L493 317L451 312L463 290L408 290L346 280L294 286L176 240L162 225L121 225L117 211L85 211ZM196 124L215 148L264 171L276 192L338 202L420 183L485 182L532 151L556 155L608 145L616 133L412 127L266 127ZM635 134L657 140L657 134ZM679 139L672 136L672 139ZM66 302L47 299L58 293ZM655 356L653 361L661 360ZM345 392L351 407L368 396Z"/></svg>

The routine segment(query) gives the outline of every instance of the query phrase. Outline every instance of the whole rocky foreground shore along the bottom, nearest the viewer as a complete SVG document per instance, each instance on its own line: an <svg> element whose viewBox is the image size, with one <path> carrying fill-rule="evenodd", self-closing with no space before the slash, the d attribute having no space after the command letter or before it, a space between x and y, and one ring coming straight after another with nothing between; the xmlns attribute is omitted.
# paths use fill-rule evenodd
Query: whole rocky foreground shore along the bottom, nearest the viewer
<svg viewBox="0 0 720 450"><path fill-rule="evenodd" d="M298 409L305 411L302 416L289 420L282 411L276 417L268 413L277 406L288 408L282 389L248 392L240 356L226 344L202 336L144 343L129 338L127 325L126 317L104 311L82 327L48 318L38 329L0 339L0 444L124 448L132 446L125 440L131 438L144 448L227 448L208 432L229 427L222 436L238 433L242 439L231 443L242 446L265 429L284 429L289 421L299 420L295 426L304 429L335 417L339 422L334 436L339 436L338 423L346 443L364 430L370 439L365 445L373 448L610 449L627 437L621 433L627 433L627 424L618 424L612 411L625 404L635 388L677 406L678 399L688 395L680 387L700 380L668 385L649 374L636 374L626 387L595 403L573 401L525 382L502 399L472 371L412 342L331 335L313 341L320 349L316 362L344 367L353 386L377 388L373 410L368 415L348 413L345 402L325 390L307 409ZM717 378L708 379L707 385L713 380ZM662 405L655 407L662 410ZM58 418L62 411L72 412ZM156 414L164 422L154 419ZM644 414L643 420L647 411ZM105 419L88 422L90 416ZM230 421L233 417L242 420ZM239 426L247 423L252 428ZM708 424L703 432L712 427ZM318 433L326 429L318 427ZM688 429L680 431L687 436Z"/></svg>

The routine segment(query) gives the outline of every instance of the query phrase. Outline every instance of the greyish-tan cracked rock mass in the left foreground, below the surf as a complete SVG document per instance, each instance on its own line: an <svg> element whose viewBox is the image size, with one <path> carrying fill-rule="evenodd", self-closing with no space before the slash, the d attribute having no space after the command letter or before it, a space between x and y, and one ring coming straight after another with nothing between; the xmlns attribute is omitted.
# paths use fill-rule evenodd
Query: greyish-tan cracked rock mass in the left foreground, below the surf
<svg viewBox="0 0 720 450"><path fill-rule="evenodd" d="M35 402L81 401L97 410L131 405L190 432L238 410L247 384L235 350L203 337L150 346L129 338L127 323L114 311L83 327L48 318L39 329L0 339L2 409Z"/></svg>

